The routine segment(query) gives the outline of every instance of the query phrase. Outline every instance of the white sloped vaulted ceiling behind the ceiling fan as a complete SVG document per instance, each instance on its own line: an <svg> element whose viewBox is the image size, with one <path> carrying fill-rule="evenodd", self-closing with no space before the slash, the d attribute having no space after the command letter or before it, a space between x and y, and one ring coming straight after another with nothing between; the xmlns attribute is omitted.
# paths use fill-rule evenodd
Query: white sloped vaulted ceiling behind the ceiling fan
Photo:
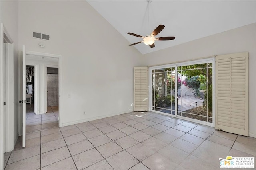
<svg viewBox="0 0 256 170"><path fill-rule="evenodd" d="M154 48L144 43L130 47L142 54L256 22L255 0L153 0L149 3L149 11L146 0L87 2L131 44L142 39L128 35L128 32L146 36L160 24L165 28L156 37L176 37L171 41L156 41Z"/></svg>

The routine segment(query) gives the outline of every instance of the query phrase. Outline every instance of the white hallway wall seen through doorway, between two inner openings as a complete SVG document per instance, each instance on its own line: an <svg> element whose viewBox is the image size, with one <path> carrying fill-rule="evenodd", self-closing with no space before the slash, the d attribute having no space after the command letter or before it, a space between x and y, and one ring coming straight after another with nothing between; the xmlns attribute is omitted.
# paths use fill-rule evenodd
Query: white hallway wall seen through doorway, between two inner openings
<svg viewBox="0 0 256 170"><path fill-rule="evenodd" d="M41 58L41 59L40 59ZM46 113L46 67L58 68L58 59L48 59L47 57L37 57L33 55L26 55L26 65L38 65L36 70L38 75L38 107L36 114Z"/></svg>

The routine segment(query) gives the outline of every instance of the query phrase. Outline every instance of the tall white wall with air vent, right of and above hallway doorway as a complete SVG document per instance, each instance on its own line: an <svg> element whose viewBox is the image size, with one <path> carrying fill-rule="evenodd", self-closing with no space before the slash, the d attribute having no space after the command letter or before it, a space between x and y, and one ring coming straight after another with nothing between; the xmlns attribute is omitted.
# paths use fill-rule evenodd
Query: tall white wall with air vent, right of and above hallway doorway
<svg viewBox="0 0 256 170"><path fill-rule="evenodd" d="M88 2L18 2L19 48L62 55L63 126L134 110L133 68L142 55Z"/></svg>

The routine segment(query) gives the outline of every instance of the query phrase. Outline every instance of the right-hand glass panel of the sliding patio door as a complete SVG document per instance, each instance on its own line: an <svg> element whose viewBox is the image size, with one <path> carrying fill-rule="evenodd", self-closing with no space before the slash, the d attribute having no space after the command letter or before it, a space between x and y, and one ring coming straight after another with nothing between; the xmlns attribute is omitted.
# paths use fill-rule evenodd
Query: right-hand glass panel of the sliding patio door
<svg viewBox="0 0 256 170"><path fill-rule="evenodd" d="M178 67L178 75L178 115L212 123L212 63Z"/></svg>

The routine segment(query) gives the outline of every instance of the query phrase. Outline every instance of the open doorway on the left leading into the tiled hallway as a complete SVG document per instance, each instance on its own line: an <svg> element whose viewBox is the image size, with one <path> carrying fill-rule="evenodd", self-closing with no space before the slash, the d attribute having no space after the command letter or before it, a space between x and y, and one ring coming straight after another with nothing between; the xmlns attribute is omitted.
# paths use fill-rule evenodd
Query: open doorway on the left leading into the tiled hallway
<svg viewBox="0 0 256 170"><path fill-rule="evenodd" d="M26 133L58 127L58 60L26 54Z"/></svg>

